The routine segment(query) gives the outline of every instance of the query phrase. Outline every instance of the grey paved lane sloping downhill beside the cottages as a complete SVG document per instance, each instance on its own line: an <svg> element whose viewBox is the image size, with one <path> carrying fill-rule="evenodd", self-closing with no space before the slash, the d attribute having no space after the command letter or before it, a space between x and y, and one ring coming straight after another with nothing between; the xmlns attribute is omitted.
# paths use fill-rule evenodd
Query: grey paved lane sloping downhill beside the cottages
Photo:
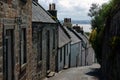
<svg viewBox="0 0 120 80"><path fill-rule="evenodd" d="M56 73L55 76L44 80L100 80L100 65L69 68Z"/></svg>

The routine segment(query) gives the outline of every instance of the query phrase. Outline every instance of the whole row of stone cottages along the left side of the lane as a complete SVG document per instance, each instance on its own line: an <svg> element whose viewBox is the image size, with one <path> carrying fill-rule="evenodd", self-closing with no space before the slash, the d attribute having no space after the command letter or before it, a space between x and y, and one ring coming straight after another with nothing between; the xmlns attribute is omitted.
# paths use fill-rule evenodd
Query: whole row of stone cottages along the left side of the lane
<svg viewBox="0 0 120 80"><path fill-rule="evenodd" d="M38 0L0 0L0 80L41 80L91 64L91 46L82 45L70 18L64 22L66 27L57 20L55 4L46 11Z"/></svg>

